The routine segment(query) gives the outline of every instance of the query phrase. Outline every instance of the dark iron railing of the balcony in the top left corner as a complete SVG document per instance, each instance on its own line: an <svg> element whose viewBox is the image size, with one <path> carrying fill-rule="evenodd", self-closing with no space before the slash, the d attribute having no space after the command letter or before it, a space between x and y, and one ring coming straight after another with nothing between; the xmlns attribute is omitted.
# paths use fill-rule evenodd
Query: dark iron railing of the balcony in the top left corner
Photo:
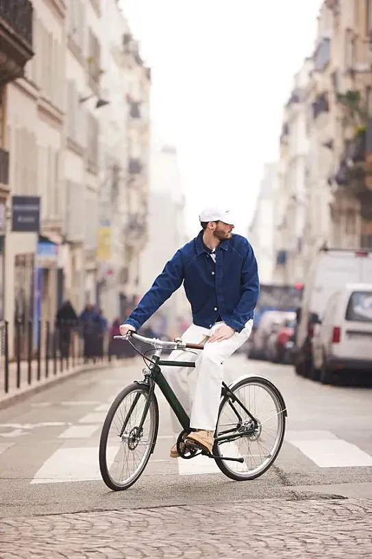
<svg viewBox="0 0 372 559"><path fill-rule="evenodd" d="M1 19L32 47L32 3L29 0L0 0Z"/></svg>

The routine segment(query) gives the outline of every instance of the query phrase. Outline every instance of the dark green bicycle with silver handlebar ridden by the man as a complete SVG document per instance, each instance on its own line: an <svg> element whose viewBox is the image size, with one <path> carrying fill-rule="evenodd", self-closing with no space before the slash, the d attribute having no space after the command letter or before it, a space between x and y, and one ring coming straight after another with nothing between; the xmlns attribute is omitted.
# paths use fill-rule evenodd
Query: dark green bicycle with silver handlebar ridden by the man
<svg viewBox="0 0 372 559"><path fill-rule="evenodd" d="M148 351L141 353L140 350L138 350L136 346L130 342L130 337L133 337L135 340L144 344L151 345L155 350L152 357L147 357L147 354L149 353ZM161 370L163 366L195 367L195 363L191 363L190 361L170 361L160 359L164 349L180 349L184 351L203 350L203 345L186 344L179 338L176 338L173 342L165 342L144 337L135 332L131 332L125 336L114 336L114 338L127 340L136 352L139 355L142 355L147 368L142 370L144 375L144 379L142 381L134 381L132 384L129 384L126 388L121 390L118 396L116 396L116 399L114 399L103 423L101 438L99 441L99 468L102 479L108 488L115 491L129 488L139 479L140 475L147 466L147 462L149 462L149 458L156 446L159 428L159 406L155 394L156 385L160 388L162 394L164 394L166 401L169 403L171 409L173 409L173 412L177 416L179 423L182 425L183 430L179 433L177 438L177 451L179 453L179 457L190 460L197 455L206 455L214 459L223 474L235 481L256 479L272 466L283 444L287 416L283 396L272 381L258 374L246 374L245 376L239 377L233 381L230 385L227 385L225 382L222 383L219 416L216 423L216 431L214 433L214 447L212 449L212 454L210 454L198 447L197 444L186 440L188 433L190 433L190 418L188 417L188 414L186 414L181 403L179 403L173 390L171 390L171 387L166 381ZM271 396L271 399L273 400L274 409L271 409L270 412L268 412L271 414L268 418L262 417L263 412L260 414L257 413L256 406L255 409L253 409L253 413L251 413L245 403L243 403L237 395L237 392L242 388L248 388L250 391L251 388L255 387L263 388L266 398L267 396ZM124 416L121 414L119 427L116 426L116 443L110 446L108 438L116 412L118 412L121 404L127 398L130 399L131 396L134 397L132 402L129 404L129 412ZM132 414L134 414L141 398L144 400L144 406L142 410L135 415L132 422ZM255 402L256 396L253 404ZM227 409L227 411L232 411L233 413L233 420L231 424L225 425L225 423L221 423L221 418L225 409ZM243 419L243 416L246 416L246 418ZM261 455L262 445L266 441L265 435L263 434L264 425L272 418L277 420L278 425L276 435L273 436L269 434L269 437L273 438L273 447L271 450L265 450L265 452L262 453L262 457L264 458L262 464L259 466L255 464L253 468L249 469L247 460L245 460L245 456L242 455L240 447L238 447L236 443L239 441L245 441L248 442L248 446L250 447L250 444L257 442L259 447L258 450ZM149 420L149 432L145 435L145 425L147 424L147 420ZM268 436L266 435L266 437ZM221 447L224 444L227 444L229 449L231 449L230 454L233 454L234 451L234 455L223 455ZM120 453L128 451L128 453L131 453L131 456L134 458L142 447L144 447L144 453L142 458L139 460L134 473L129 474L129 471L127 471L127 473L124 474L125 466L123 466L123 468L121 468L121 475L125 475L126 477L124 479L119 479L119 481L114 479L111 468L116 459L117 462L119 462L118 456ZM258 457L258 455L253 456ZM230 464L233 463L237 465L237 470L233 470L232 466L230 466Z"/></svg>

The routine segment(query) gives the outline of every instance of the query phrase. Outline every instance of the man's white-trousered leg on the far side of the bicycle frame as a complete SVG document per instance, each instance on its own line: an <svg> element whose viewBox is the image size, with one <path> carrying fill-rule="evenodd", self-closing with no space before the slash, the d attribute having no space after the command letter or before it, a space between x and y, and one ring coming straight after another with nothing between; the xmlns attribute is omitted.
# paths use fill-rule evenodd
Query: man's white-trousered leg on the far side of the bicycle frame
<svg viewBox="0 0 372 559"><path fill-rule="evenodd" d="M207 337L205 329L202 329L199 326L195 326L195 324L192 324L190 328L186 330L184 335L182 335L182 341L188 344L202 344L206 339ZM199 352L195 352L195 350L193 350L193 352L175 350L172 351L171 355L169 355L168 360L188 361L190 363L193 363L197 359L198 355ZM186 367L164 367L162 369L166 381L168 381L171 389L177 396L179 403L181 403L182 407L184 407L184 410L186 414L188 414L188 416L190 416L191 405L187 377L188 374L190 374L191 370L191 368ZM182 429L182 426L180 425L177 416L173 412L173 409L171 409L171 425L173 434L177 436L179 431ZM171 457L177 456L177 449L174 446L171 449Z"/></svg>

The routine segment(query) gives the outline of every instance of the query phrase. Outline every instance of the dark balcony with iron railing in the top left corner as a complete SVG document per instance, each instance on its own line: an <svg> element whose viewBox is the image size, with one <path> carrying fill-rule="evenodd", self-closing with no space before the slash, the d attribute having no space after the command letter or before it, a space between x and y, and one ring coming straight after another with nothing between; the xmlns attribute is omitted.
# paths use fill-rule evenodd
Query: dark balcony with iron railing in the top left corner
<svg viewBox="0 0 372 559"><path fill-rule="evenodd" d="M0 0L0 84L23 76L32 50L32 3Z"/></svg>

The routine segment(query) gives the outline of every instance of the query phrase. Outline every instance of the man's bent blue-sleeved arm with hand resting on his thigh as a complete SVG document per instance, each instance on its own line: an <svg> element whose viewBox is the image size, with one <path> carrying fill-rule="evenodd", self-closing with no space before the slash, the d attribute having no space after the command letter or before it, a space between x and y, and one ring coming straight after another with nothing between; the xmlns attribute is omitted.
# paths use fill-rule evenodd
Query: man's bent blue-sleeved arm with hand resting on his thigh
<svg viewBox="0 0 372 559"><path fill-rule="evenodd" d="M247 241L247 254L242 267L242 289L243 294L234 309L230 320L225 320L228 326L236 332L241 332L249 320L249 315L254 311L260 295L260 281L258 278L258 266L251 244Z"/></svg>

